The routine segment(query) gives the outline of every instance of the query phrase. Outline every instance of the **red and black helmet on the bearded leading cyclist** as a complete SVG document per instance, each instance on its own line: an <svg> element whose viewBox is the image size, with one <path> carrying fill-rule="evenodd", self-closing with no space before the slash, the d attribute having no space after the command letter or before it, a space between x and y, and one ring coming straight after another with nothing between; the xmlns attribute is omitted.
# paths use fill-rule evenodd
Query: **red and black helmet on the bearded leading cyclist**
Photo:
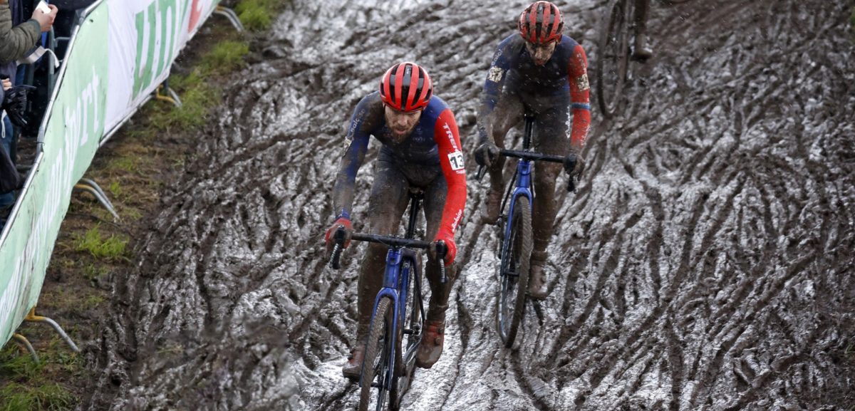
<svg viewBox="0 0 855 411"><path fill-rule="evenodd" d="M433 83L428 72L414 62L398 63L383 74L380 97L383 103L398 111L424 109L433 96Z"/></svg>

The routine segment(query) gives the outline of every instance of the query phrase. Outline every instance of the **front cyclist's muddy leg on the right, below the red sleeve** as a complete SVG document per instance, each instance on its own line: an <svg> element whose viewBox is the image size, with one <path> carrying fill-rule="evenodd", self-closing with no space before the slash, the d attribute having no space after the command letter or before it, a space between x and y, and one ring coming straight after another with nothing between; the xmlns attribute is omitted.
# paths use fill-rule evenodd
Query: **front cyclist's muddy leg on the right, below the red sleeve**
<svg viewBox="0 0 855 411"><path fill-rule="evenodd" d="M442 174L433 179L431 185L425 190L424 212L425 220L428 221L428 239L433 239L436 232L439 231L439 222L442 220L447 191L448 186ZM448 297L451 294L451 285L454 284L456 271L454 264L445 267L445 284L443 284L439 262L428 253L426 274L430 285L430 303L425 321L426 330L422 334L422 344L419 346L416 355L416 364L422 368L432 367L442 355L445 340L445 310L448 309Z"/></svg>

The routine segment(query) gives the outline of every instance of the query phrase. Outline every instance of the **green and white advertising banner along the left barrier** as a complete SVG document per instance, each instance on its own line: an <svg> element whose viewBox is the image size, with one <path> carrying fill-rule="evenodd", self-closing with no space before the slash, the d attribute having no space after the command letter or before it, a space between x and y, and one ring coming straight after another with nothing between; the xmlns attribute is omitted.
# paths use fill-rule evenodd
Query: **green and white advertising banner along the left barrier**
<svg viewBox="0 0 855 411"><path fill-rule="evenodd" d="M38 302L72 189L102 138L168 77L216 3L108 0L89 9L44 116L43 150L0 232L0 345Z"/></svg>

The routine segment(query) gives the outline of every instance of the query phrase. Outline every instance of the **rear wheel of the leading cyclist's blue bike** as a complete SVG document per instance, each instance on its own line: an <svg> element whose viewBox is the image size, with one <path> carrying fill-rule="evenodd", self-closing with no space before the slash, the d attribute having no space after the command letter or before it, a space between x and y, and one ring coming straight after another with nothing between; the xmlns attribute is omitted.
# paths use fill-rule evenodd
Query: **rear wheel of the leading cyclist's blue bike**
<svg viewBox="0 0 855 411"><path fill-rule="evenodd" d="M419 343L422 342L422 332L424 330L424 318L422 317L422 299L419 297L422 293L421 280L422 264L416 264L410 277L410 290L407 292L407 302L404 304L404 313L401 327L398 327L398 342L395 346L396 361L395 361L395 376L398 377L392 390L389 391L389 409L398 411L401 407L401 398L404 397L407 390L410 389L410 383L413 380L413 375L416 372L416 352L419 348ZM416 286L416 279L420 286ZM416 297L419 294L419 297ZM406 327L406 332L404 332Z"/></svg>

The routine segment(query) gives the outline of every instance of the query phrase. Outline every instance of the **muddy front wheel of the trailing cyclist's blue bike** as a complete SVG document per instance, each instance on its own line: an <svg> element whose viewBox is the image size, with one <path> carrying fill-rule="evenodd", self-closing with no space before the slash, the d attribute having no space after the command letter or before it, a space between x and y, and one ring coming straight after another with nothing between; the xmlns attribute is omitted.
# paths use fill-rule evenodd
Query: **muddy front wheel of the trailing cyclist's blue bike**
<svg viewBox="0 0 855 411"><path fill-rule="evenodd" d="M496 330L505 347L516 339L526 308L528 263L532 255L532 211L528 197L516 197L510 233L504 239L496 299Z"/></svg>

